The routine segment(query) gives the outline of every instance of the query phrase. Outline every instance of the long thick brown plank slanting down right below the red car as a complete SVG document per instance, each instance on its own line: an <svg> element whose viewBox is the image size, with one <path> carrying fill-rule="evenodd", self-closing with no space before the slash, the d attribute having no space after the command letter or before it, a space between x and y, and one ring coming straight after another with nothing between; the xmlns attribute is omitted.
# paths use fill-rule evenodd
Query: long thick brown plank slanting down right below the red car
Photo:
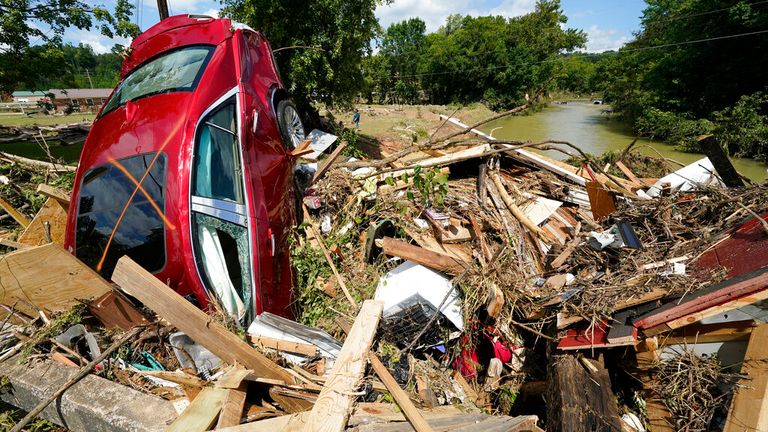
<svg viewBox="0 0 768 432"><path fill-rule="evenodd" d="M112 280L120 285L123 291L137 298L225 362L241 364L265 378L293 382L292 376L283 368L213 321L205 312L160 282L130 257L120 258ZM288 399L279 403L286 404L285 408L289 411L300 411L310 406L304 401L293 403Z"/></svg>

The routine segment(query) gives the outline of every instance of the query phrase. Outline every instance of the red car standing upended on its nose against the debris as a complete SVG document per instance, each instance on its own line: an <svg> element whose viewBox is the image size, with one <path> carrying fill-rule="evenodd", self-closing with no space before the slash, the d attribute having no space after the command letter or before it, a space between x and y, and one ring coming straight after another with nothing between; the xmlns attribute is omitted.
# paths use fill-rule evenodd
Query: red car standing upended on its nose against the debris
<svg viewBox="0 0 768 432"><path fill-rule="evenodd" d="M269 43L183 15L137 37L80 155L67 249L110 278L128 255L247 325L291 315L293 159L304 139Z"/></svg>

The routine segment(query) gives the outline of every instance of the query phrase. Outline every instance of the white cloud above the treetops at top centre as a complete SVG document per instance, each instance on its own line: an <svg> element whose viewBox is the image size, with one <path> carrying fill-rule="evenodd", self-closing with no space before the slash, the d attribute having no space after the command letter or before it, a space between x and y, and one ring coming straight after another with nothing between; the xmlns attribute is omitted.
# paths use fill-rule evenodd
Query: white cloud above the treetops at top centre
<svg viewBox="0 0 768 432"><path fill-rule="evenodd" d="M470 0L395 0L376 8L376 16L383 28L409 18L421 18L427 24L427 33L436 31L445 24L451 14L502 15L507 18L533 11L535 0L502 0L497 5L485 1Z"/></svg>

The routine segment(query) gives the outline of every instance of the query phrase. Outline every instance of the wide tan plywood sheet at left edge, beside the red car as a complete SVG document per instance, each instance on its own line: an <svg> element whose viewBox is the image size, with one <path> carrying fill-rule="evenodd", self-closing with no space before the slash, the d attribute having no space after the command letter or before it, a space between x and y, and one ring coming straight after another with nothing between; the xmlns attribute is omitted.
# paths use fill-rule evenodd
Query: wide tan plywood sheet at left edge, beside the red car
<svg viewBox="0 0 768 432"><path fill-rule="evenodd" d="M66 311L78 300L111 291L109 283L61 246L49 244L0 257L0 303L36 317Z"/></svg>

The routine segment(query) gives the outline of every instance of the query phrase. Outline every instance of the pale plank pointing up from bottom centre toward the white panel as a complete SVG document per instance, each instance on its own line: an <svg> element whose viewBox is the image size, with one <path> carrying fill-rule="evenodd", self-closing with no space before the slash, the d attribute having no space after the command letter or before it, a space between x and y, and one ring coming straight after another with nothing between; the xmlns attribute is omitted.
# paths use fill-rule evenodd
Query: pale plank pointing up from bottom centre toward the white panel
<svg viewBox="0 0 768 432"><path fill-rule="evenodd" d="M330 378L312 408L305 431L341 432L347 424L356 396L354 392L365 372L368 351L381 319L383 302L366 300L341 347Z"/></svg>

